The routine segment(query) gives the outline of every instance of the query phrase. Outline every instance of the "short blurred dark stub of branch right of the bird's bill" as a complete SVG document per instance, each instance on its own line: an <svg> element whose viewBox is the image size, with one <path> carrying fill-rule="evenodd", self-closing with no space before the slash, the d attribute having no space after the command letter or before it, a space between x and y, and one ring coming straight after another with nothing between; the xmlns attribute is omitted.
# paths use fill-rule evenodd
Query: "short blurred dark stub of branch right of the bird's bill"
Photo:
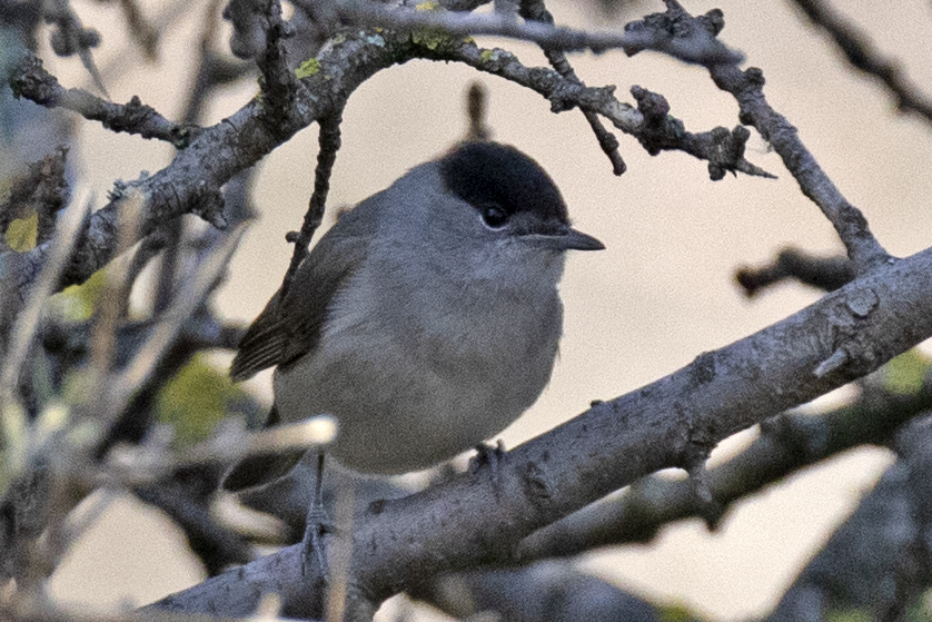
<svg viewBox="0 0 932 622"><path fill-rule="evenodd" d="M748 298L786 279L834 292L852 278L854 266L847 257L813 257L795 248L781 250L770 266L745 267L735 273L735 280Z"/></svg>

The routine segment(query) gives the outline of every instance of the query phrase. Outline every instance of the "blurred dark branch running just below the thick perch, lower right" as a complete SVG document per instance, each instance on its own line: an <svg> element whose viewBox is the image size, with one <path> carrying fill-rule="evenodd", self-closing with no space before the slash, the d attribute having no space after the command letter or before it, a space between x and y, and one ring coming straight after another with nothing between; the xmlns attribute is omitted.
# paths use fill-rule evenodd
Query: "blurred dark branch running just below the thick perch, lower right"
<svg viewBox="0 0 932 622"><path fill-rule="evenodd" d="M715 527L735 501L816 462L862 444L885 444L903 423L932 408L932 377L912 394L871 388L857 402L822 415L786 413L761 424L745 451L706 474L712 503L692 482L646 477L532 534L518 559L576 555L597 546L647 542L665 524L701 517Z"/></svg>

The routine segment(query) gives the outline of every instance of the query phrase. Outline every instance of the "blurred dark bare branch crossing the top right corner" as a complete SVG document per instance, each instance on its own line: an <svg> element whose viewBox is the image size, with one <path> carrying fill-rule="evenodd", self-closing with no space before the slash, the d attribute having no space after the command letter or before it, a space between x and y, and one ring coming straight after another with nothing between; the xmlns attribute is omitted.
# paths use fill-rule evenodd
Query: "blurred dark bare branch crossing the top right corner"
<svg viewBox="0 0 932 622"><path fill-rule="evenodd" d="M869 76L878 78L896 98L896 108L902 112L915 112L925 122L932 122L932 100L911 83L900 66L884 58L871 46L865 32L837 14L822 0L792 0L813 26L821 28L844 53L847 61Z"/></svg>

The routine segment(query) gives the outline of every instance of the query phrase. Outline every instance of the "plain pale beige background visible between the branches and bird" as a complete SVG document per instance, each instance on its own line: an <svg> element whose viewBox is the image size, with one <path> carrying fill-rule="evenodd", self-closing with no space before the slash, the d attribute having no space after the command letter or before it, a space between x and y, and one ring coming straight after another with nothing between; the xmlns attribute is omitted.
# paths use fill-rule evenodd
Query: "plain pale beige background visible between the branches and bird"
<svg viewBox="0 0 932 622"><path fill-rule="evenodd" d="M894 17L883 3L837 4L870 30L882 50L901 59L916 82L932 85L932 63L922 49L932 22L928 2L900 3ZM147 13L157 16L168 6L152 0ZM593 23L582 4L554 0L549 6L561 23ZM892 253L908 255L932 244L926 205L932 176L923 175L919 164L929 161L932 150L926 125L893 113L891 99L872 80L854 76L786 2L686 6L693 12L716 6L724 10L723 39L746 53L748 66L764 69L772 105L800 128L821 165L865 211ZM121 36L113 34L122 31L115 7L82 2L78 9L86 23L105 32L98 58L115 100L138 93L177 116L184 99L179 89L188 83L195 58L200 3L176 4L185 12L156 67L141 65L135 51L121 48ZM645 2L642 10L662 6ZM544 63L533 47L508 46L525 63ZM700 68L657 55L628 59L621 52L576 56L574 61L587 83L618 85L623 100L631 101L626 91L632 85L665 95L673 115L691 130L737 122L734 101ZM50 65L66 83L86 80L73 60ZM117 67L121 77L115 77ZM503 434L507 445L582 412L592 399L637 388L816 299L814 292L782 286L751 303L733 284L735 267L769 259L787 244L823 253L840 249L827 221L756 135L748 157L779 180L727 177L711 182L703 162L672 152L651 158L624 136L628 172L615 178L582 115L553 115L541 97L465 67L409 62L359 89L345 115L330 206L357 203L458 139L465 130L463 93L474 79L492 89L495 137L547 168L576 226L607 246L599 254L569 258L562 356L539 402ZM231 113L255 91L255 83L226 91L210 108L210 121ZM170 157L165 145L112 135L93 124L83 124L81 131L81 166L101 197L113 179L156 171ZM315 152L311 128L262 162L256 194L261 219L232 261L218 298L229 318L249 320L277 288L290 255L284 234L300 224ZM252 386L267 394L268 377L252 381ZM698 523L676 525L650 545L593 554L582 563L636 593L682 602L704 614L726 620L759 614L775 603L889 462L884 452L861 450L740 504L716 534L705 533ZM141 604L199 580L197 564L158 514L118 500L73 550L51 588L69 602Z"/></svg>

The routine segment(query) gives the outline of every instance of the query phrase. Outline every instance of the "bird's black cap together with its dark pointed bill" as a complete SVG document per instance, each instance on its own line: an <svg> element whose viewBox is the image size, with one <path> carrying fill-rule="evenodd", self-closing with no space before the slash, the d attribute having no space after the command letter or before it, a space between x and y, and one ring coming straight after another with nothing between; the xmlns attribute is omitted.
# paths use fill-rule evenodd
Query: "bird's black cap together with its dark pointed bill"
<svg viewBox="0 0 932 622"><path fill-rule="evenodd" d="M556 250L605 248L569 227L566 204L551 176L514 147L465 142L439 164L446 189L472 205L489 228L513 225L513 234Z"/></svg>

